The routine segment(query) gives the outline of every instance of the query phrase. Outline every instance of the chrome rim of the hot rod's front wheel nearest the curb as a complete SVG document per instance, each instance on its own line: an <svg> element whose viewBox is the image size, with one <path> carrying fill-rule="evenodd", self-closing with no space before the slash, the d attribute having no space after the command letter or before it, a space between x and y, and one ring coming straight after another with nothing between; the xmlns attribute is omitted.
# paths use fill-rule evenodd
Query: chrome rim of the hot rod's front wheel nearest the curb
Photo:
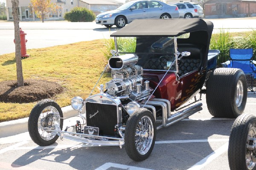
<svg viewBox="0 0 256 170"><path fill-rule="evenodd" d="M58 130L61 119L58 110L53 106L45 107L38 118L38 133L44 140L51 140L57 132L47 130Z"/></svg>

